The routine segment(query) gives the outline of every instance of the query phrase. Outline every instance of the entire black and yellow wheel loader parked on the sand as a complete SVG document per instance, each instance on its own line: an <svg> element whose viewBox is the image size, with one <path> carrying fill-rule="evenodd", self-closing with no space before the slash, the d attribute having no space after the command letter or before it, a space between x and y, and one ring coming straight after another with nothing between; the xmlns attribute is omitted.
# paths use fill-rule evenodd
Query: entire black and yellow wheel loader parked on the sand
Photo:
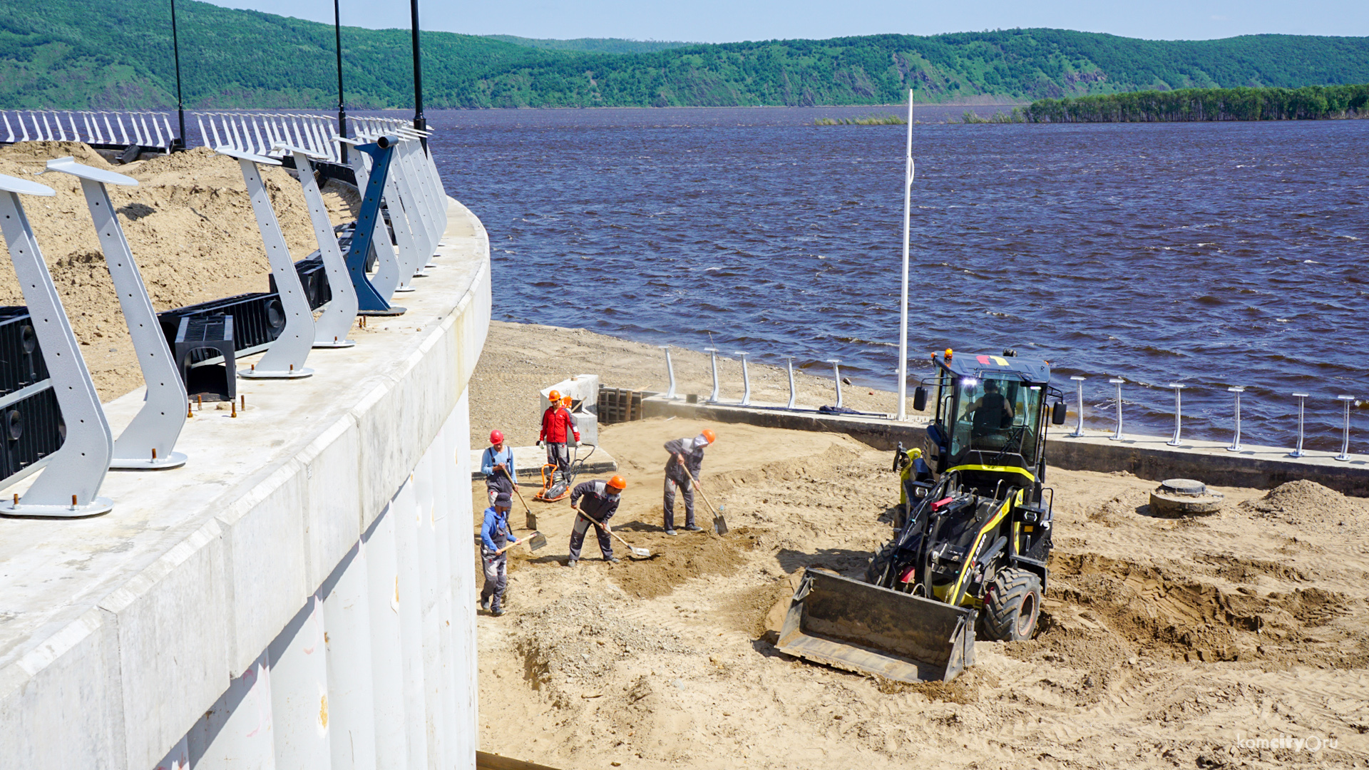
<svg viewBox="0 0 1369 770"><path fill-rule="evenodd" d="M897 534L865 581L805 570L776 647L841 669L917 682L951 680L975 662L975 638L1036 632L1051 499L1043 486L1046 423L1065 422L1050 364L1003 355L932 355L931 463L902 445L906 503ZM905 467L906 466L906 467Z"/></svg>

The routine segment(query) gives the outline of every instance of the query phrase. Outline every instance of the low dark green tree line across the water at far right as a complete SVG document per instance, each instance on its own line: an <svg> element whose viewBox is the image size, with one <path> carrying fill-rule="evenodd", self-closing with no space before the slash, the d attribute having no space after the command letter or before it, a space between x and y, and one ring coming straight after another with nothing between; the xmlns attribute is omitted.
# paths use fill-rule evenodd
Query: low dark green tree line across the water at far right
<svg viewBox="0 0 1369 770"><path fill-rule="evenodd" d="M1303 88L1181 88L1040 99L1023 114L1034 123L1183 121L1322 121L1369 116L1369 84Z"/></svg>

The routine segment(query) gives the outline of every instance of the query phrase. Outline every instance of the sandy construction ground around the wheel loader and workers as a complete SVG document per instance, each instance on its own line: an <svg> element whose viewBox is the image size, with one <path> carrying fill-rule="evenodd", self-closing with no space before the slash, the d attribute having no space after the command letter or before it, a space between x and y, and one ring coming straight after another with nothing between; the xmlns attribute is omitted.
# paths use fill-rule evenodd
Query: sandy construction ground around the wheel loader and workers
<svg viewBox="0 0 1369 770"><path fill-rule="evenodd" d="M515 437L563 374L601 360L606 382L645 386L660 366L654 348L583 332L497 325L490 340L472 421ZM482 749L563 769L1369 766L1369 501L1295 482L1161 519L1154 482L1053 469L1040 634L979 643L958 680L908 686L790 659L765 630L789 575L856 577L891 536L891 454L715 425L704 486L732 532L669 537L661 444L701 427L601 429L628 480L615 529L650 560L615 544L622 563L604 563L591 538L564 567L570 508L523 486L550 543L516 549L509 612L479 618ZM483 508L483 485L472 495Z"/></svg>

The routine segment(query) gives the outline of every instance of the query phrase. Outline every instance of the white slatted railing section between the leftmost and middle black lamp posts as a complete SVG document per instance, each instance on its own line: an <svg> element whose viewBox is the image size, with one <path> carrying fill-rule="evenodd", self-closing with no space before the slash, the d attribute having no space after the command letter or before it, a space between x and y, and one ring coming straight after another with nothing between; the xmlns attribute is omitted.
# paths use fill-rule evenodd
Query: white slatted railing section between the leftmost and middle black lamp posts
<svg viewBox="0 0 1369 770"><path fill-rule="evenodd" d="M297 147L338 163L337 122L327 115L298 112L194 112L205 147L282 158L281 145Z"/></svg>

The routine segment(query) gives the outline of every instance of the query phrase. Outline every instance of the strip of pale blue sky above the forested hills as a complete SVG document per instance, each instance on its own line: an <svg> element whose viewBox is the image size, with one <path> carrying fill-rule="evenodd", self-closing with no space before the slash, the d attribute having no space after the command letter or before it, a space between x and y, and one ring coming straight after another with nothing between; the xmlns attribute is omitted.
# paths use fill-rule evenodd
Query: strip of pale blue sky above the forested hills
<svg viewBox="0 0 1369 770"><path fill-rule="evenodd" d="M333 21L331 0L218 0L314 21ZM341 0L342 23L408 25L408 0ZM1369 1L1344 0L420 0L423 29L523 37L627 37L730 42L850 34L935 34L1049 26L1150 40L1236 34L1369 36Z"/></svg>

